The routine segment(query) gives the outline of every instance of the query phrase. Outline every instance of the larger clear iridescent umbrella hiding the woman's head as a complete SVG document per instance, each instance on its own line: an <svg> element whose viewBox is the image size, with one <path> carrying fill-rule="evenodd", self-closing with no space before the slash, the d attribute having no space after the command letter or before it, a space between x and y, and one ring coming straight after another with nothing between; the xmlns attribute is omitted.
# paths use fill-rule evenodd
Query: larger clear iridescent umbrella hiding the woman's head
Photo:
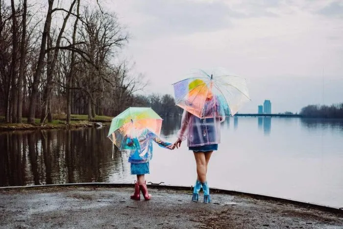
<svg viewBox="0 0 343 229"><path fill-rule="evenodd" d="M225 70L197 70L193 77L173 84L176 105L199 118L234 116L250 101L245 78Z"/></svg>

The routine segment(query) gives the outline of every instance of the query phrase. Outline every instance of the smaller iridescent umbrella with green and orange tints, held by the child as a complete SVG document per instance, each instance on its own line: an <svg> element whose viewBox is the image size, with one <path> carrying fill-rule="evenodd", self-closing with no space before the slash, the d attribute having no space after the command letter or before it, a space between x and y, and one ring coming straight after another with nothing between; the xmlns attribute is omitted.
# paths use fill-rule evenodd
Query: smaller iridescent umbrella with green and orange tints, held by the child
<svg viewBox="0 0 343 229"><path fill-rule="evenodd" d="M127 141L139 143L137 138L147 130L160 135L162 118L149 107L129 107L112 119L107 137L119 150L127 150ZM135 145L135 147L139 147Z"/></svg>

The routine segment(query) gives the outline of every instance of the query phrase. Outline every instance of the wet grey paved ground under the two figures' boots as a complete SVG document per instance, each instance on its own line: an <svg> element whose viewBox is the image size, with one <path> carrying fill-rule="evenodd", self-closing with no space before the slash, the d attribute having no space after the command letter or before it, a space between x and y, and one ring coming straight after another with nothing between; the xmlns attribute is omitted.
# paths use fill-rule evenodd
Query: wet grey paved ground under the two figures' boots
<svg viewBox="0 0 343 229"><path fill-rule="evenodd" d="M151 201L133 201L132 187L50 186L0 189L0 228L329 228L343 214L244 195L150 188Z"/></svg>

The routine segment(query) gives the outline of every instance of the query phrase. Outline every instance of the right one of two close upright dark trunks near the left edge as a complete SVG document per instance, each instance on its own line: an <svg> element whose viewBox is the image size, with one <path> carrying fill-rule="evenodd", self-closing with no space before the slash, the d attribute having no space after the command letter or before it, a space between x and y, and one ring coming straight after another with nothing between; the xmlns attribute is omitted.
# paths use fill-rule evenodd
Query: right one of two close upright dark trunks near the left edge
<svg viewBox="0 0 343 229"><path fill-rule="evenodd" d="M22 43L20 47L20 66L19 66L19 78L18 78L18 111L17 111L17 122L22 123L23 116L23 80L24 80L24 68L25 68L25 36L26 36L26 11L27 3L26 0L23 2L23 33Z"/></svg>

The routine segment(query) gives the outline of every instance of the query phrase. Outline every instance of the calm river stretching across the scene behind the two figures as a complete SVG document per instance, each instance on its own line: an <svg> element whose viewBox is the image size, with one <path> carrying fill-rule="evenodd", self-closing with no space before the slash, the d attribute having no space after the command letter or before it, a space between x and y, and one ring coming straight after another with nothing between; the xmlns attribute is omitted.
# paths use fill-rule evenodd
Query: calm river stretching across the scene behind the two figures
<svg viewBox="0 0 343 229"><path fill-rule="evenodd" d="M163 122L174 142L178 118ZM79 182L133 183L127 154L106 138L109 127L0 132L0 186ZM154 145L147 181L191 186L194 155L186 142ZM227 118L209 164L210 187L343 207L343 120Z"/></svg>

